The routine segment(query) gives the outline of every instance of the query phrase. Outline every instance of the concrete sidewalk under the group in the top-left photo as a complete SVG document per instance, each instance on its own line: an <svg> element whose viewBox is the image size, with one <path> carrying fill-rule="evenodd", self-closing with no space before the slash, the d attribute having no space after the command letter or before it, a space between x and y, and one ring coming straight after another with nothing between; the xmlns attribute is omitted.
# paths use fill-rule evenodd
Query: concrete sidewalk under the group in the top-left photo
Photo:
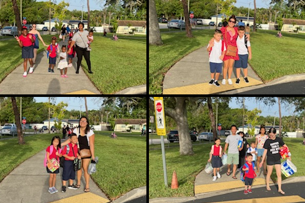
<svg viewBox="0 0 305 203"><path fill-rule="evenodd" d="M58 44L61 51L63 42L59 42ZM67 45L67 42L65 45ZM59 59L58 54L56 65L54 66L54 73L48 73L49 64L47 52L44 50L42 53L37 54L34 72L27 74L26 77L22 76L24 71L23 63L21 63L0 83L0 94L101 94L88 79L81 67L79 74L75 74L77 57L73 59L73 66L68 67L68 78L62 78L60 76L60 70L57 69ZM82 62L85 62L84 58ZM29 62L27 62L28 71Z"/></svg>

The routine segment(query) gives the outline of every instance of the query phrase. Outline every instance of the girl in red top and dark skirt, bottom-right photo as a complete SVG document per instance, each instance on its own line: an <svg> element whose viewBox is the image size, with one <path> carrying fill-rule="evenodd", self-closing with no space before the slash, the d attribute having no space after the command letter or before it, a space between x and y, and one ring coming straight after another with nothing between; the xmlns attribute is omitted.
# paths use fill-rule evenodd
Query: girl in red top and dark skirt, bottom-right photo
<svg viewBox="0 0 305 203"><path fill-rule="evenodd" d="M208 162L212 161L212 167L214 172L213 181L216 181L217 178L221 178L221 175L219 173L219 167L221 167L223 164L221 162L222 157L222 146L220 145L220 138L215 138L215 145L212 145L211 152L210 152L210 158L207 160ZM217 176L216 176L216 170L217 170Z"/></svg>

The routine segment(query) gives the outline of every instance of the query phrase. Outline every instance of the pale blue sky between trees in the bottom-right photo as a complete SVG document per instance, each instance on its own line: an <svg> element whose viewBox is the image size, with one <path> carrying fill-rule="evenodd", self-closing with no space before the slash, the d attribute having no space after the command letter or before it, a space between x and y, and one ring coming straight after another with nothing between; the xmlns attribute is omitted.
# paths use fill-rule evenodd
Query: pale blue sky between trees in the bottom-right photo
<svg viewBox="0 0 305 203"><path fill-rule="evenodd" d="M242 99L242 97L238 97ZM273 106L266 106L263 103L257 102L255 99L245 99L245 105L248 110L253 110L255 108L259 109L262 111L261 116L274 116L276 112L276 116L279 117L279 105L275 104ZM236 104L236 99L232 99L232 101L229 104L230 108L241 108L240 104ZM295 110L295 107L293 105L291 106L281 106L281 111L282 111L282 116L289 116L293 115ZM297 114L295 114L297 115Z"/></svg>

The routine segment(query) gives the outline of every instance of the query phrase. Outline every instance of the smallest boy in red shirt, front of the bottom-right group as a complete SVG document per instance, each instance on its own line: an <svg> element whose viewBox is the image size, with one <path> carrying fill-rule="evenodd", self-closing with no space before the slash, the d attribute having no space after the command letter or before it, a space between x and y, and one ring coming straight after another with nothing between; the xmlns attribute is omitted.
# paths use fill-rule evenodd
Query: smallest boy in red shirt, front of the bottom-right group
<svg viewBox="0 0 305 203"><path fill-rule="evenodd" d="M245 191L243 194L252 193L251 186L253 179L256 177L255 174L255 164L252 162L253 156L252 154L247 154L247 162L242 166L240 174L241 181L245 181Z"/></svg>

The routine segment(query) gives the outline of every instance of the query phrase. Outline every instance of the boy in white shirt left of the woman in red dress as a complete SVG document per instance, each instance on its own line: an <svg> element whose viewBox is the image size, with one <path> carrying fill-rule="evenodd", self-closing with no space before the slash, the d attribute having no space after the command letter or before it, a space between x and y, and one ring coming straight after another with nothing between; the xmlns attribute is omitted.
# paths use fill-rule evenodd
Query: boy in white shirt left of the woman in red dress
<svg viewBox="0 0 305 203"><path fill-rule="evenodd" d="M216 29L214 32L214 42L209 43L207 46L207 51L209 52L209 63L210 63L210 72L211 72L211 81L210 85L214 84L219 87L218 78L222 70L222 62L226 53L226 46L224 41L221 40L222 33L219 29ZM216 76L215 76L216 71ZM215 76L215 80L214 80Z"/></svg>

